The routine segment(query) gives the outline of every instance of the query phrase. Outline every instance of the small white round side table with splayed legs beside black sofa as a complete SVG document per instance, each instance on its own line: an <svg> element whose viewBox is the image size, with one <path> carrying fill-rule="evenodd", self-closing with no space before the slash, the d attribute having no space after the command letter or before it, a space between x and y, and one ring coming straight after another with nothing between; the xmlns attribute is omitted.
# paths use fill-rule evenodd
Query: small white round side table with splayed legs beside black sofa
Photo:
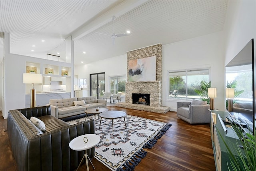
<svg viewBox="0 0 256 171"><path fill-rule="evenodd" d="M85 158L86 161L86 167L87 171L89 171L89 165L88 165L88 159L90 163L92 164L92 161L90 160L89 156L87 155L87 149L90 149L97 145L100 142L100 136L96 134L85 134L85 135L80 135L79 137L76 137L72 139L69 143L69 147L72 150L76 151L85 151L84 157L82 158L80 164L78 165L77 169L80 167L83 159ZM95 169L94 165L92 164L93 169Z"/></svg>

